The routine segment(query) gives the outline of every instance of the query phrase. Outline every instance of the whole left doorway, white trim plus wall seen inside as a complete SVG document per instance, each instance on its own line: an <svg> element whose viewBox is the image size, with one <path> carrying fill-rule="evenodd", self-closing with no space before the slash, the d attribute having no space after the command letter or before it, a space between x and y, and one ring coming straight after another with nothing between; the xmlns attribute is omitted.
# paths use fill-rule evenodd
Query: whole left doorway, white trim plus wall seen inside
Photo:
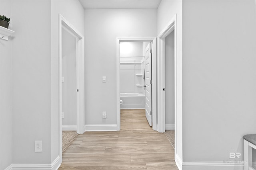
<svg viewBox="0 0 256 170"><path fill-rule="evenodd" d="M84 133L84 39L59 15L59 118L60 158L62 130Z"/></svg>

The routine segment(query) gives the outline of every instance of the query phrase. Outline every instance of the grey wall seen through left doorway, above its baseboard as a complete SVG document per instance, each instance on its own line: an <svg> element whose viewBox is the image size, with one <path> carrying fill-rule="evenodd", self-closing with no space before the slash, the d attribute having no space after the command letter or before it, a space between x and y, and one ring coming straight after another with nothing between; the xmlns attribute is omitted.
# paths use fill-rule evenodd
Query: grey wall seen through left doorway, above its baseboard
<svg viewBox="0 0 256 170"><path fill-rule="evenodd" d="M62 125L76 125L76 38L62 28Z"/></svg>

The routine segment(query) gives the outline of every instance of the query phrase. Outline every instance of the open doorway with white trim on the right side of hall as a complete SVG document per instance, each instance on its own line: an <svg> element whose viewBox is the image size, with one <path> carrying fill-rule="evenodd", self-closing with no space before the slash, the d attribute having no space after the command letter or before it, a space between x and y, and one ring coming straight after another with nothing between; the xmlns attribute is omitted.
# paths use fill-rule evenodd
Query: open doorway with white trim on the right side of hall
<svg viewBox="0 0 256 170"><path fill-rule="evenodd" d="M177 70L181 72L182 67L177 66L177 15L158 35L158 129L160 132L174 130L174 140L171 142L174 147L176 161L177 136L182 131L177 131ZM182 98L179 93L179 98ZM181 125L179 125L181 126ZM180 147L181 148L181 147ZM182 149L181 149L182 150Z"/></svg>

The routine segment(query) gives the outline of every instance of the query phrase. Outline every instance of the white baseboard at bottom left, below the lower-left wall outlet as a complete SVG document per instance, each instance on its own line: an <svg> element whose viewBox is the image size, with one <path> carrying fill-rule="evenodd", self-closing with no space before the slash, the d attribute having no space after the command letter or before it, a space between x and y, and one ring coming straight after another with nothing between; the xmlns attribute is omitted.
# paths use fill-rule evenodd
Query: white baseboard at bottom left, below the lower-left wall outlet
<svg viewBox="0 0 256 170"><path fill-rule="evenodd" d="M60 164L58 156L52 164L11 164L5 170L58 170Z"/></svg>

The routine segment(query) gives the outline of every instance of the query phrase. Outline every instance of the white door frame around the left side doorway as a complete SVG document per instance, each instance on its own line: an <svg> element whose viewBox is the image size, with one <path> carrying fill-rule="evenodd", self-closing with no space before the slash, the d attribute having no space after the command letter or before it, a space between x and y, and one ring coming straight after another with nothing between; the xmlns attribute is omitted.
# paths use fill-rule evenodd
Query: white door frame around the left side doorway
<svg viewBox="0 0 256 170"><path fill-rule="evenodd" d="M59 82L59 147L62 157L62 28L76 37L76 131L84 133L84 36L61 14L58 15L58 82Z"/></svg>

